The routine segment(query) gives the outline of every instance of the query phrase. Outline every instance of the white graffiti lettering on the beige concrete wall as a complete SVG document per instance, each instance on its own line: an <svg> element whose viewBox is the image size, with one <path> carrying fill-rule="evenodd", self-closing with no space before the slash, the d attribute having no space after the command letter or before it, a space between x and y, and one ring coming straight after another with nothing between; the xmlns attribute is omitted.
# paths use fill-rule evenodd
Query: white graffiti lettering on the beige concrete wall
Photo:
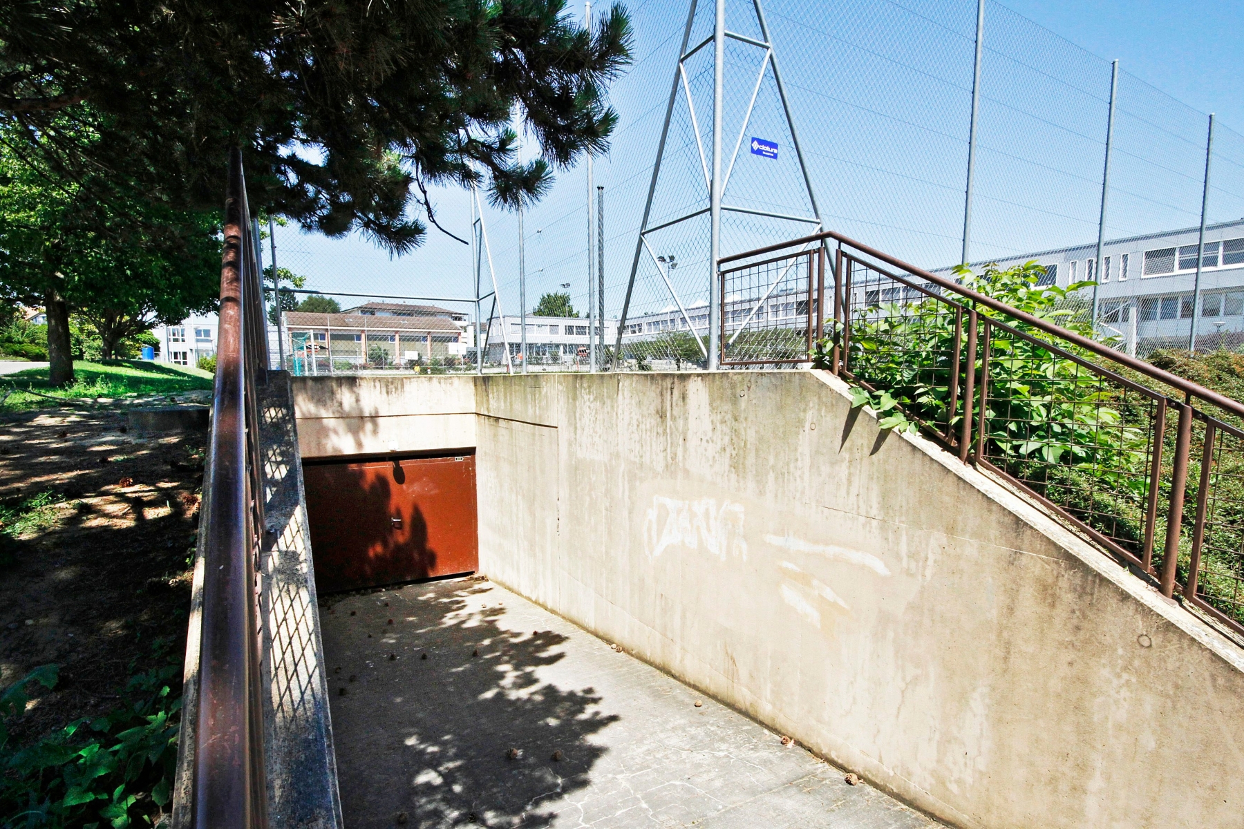
<svg viewBox="0 0 1244 829"><path fill-rule="evenodd" d="M662 520L664 513L664 520ZM699 549L703 544L722 561L738 557L748 561L748 542L743 537L743 505L717 498L679 501L653 496L643 522L643 541L648 556L656 558L669 547Z"/></svg>

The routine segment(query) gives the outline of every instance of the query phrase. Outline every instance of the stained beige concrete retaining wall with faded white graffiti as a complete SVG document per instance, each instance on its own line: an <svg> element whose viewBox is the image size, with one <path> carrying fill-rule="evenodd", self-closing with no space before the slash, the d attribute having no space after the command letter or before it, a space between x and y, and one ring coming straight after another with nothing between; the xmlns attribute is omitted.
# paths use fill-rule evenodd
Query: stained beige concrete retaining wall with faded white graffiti
<svg viewBox="0 0 1244 829"><path fill-rule="evenodd" d="M955 825L1240 825L1244 651L836 379L304 378L304 451L447 383L496 580Z"/></svg>

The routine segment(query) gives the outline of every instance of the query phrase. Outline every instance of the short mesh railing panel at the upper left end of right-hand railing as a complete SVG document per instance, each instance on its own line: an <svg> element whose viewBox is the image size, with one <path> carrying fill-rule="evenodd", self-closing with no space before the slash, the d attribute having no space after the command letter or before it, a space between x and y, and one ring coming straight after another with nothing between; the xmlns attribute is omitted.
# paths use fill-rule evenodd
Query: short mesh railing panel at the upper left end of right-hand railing
<svg viewBox="0 0 1244 829"><path fill-rule="evenodd" d="M820 259L817 249L723 271L723 365L811 359Z"/></svg>

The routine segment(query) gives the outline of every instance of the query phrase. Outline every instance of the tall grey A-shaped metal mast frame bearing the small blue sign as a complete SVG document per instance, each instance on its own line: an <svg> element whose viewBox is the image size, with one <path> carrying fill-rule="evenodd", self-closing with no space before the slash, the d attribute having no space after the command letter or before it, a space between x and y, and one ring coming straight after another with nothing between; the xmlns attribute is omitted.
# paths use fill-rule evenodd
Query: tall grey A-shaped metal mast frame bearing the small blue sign
<svg viewBox="0 0 1244 829"><path fill-rule="evenodd" d="M800 144L800 140L799 140L799 131L795 128L795 119L791 117L790 103L789 103L789 99L786 97L786 87L782 83L781 72L780 72L779 66L778 66L778 52L774 48L773 37L769 35L769 25L768 25L768 22L765 20L764 9L760 5L760 0L753 0L753 9L754 9L755 15L756 15L756 24L760 27L760 32L761 32L763 40L756 40L754 37L746 37L745 35L740 35L738 32L733 32L733 31L726 30L726 27L725 27L725 0L715 0L715 5L714 5L715 17L714 17L713 35L710 37L704 39L699 44L697 44L693 48L688 50L687 45L688 45L688 42L690 40L692 25L695 21L695 10L697 10L697 6L698 6L698 2L699 2L699 0L690 0L689 7L688 7L688 11L687 11L687 24L685 24L685 26L683 29L682 45L678 48L679 57L678 57L677 66L674 68L673 83L671 85L671 88L669 88L669 101L668 101L668 103L666 106L666 119L662 123L662 127L661 127L661 139L657 143L657 159L656 159L656 163L653 164L652 179L651 179L651 181L648 184L648 196L647 196L647 199L644 201L644 205L643 205L643 219L639 222L639 234L638 234L638 239L636 239L636 245L634 245L634 256L631 260L631 275L629 275L629 278L627 280L626 298L622 302L622 314L621 314L620 319L618 319L618 332L617 332L617 339L616 339L616 343L615 343L615 353L613 353L615 365L617 364L617 360L620 360L622 358L622 336L623 336L623 332L626 331L626 322L627 322L627 318L629 316L629 312L631 312L631 297L633 296L633 292L634 292L634 280L636 280L636 275L638 273L638 268L639 268L639 259L641 259L641 255L642 255L642 252L643 252L643 250L646 247L648 250L649 256L652 256L653 261L656 262L656 256L652 254L652 249L648 247L647 241L646 241L646 236L648 234L656 232L658 230L664 230L667 227L672 227L673 225L680 224L680 222L687 221L689 219L694 219L697 216L702 216L705 213L710 214L710 216L712 216L712 219L710 219L710 230L709 230L709 249L710 249L710 255L709 255L709 257L710 257L710 267L709 267L709 286L708 286L709 287L709 303L708 303L708 307L709 307L709 321L708 321L708 332L707 332L709 342L708 342L707 346L705 346L704 342L702 342L703 338L697 332L695 327L692 326L690 318L687 316L685 309L683 308L683 301L678 296L678 292L674 290L673 283L671 282L668 275L661 268L659 262L657 263L657 270L658 270L658 272L661 272L661 277L666 282L666 287L669 290L671 296L673 297L674 302L678 305L679 309L683 311L683 317L684 317L684 319L687 319L687 324L689 327L689 331L690 331L692 336L695 338L697 343L699 343L700 352L705 355L705 359L707 359L707 363L708 363L708 368L712 370L712 369L718 368L719 354L720 354L720 350L723 348L722 339L720 339L720 331L719 331L722 328L722 324L723 324L723 322L720 319L720 302L722 302L722 297L718 296L718 290L720 287L720 275L718 273L718 271L719 271L720 247L722 247L722 211L724 210L724 211L730 211L730 213L744 213L744 214L758 215L758 216L768 216L768 218L771 218L771 219L781 219L781 220L787 220L787 221L804 221L804 222L809 222L809 224L816 225L817 229L824 227L824 224L821 221L820 208L817 206L817 203L816 203L816 193L815 193L815 190L812 188L812 179L809 175L807 164L806 164L806 162L804 159L804 148L802 148L802 145ZM729 167L726 168L726 172L723 175L723 173L722 173L722 162L723 162L723 152L722 152L722 122L723 122L723 109L724 109L724 107L723 107L723 96L724 96L724 86L725 86L725 80L724 80L725 78L725 75L724 75L724 72L725 72L725 51L724 50L725 50L725 40L726 39L735 40L735 41L738 41L740 44L746 44L749 46L755 46L756 48L763 48L763 50L765 50L765 55L764 55L764 58L760 61L760 70L756 73L756 81L755 81L755 85L753 86L753 89L751 89L751 97L748 101L748 108L746 108L746 112L745 112L745 114L743 117L743 123L739 127L739 137L735 140L734 150L730 154ZM713 148L712 148L712 159L704 152L704 142L703 142L703 137L700 134L699 118L698 118L698 116L695 113L695 102L694 102L694 98L692 97L690 82L688 81L687 70L685 70L685 62L693 55L698 53L702 48L704 48L709 44L713 44ZM735 162L738 160L738 157L739 157L739 149L743 147L743 138L746 134L748 126L751 122L751 113L753 113L753 111L755 108L756 97L760 94L760 86L764 83L765 72L770 71L770 70L773 71L774 83L778 87L778 94L781 98L782 112L784 112L784 114L786 117L786 127L787 127L787 129L790 129L791 143L795 145L795 154L799 158L799 167L800 167L800 172L801 172L801 174L804 176L804 186L806 188L806 191L807 191L809 203L812 206L812 215L814 215L814 218L792 216L792 215L789 215L789 214L774 213L774 211L768 211L768 210L753 210L753 209L749 209L749 208L733 208L733 206L728 206L728 205L722 204L722 200L723 200L723 196L724 196L724 193L725 193L725 188L729 184L730 175L734 173L734 165L735 165ZM674 113L674 103L678 99L678 88L679 88L679 86L682 86L683 94L684 94L684 97L687 99L687 107L688 107L688 112L690 114L690 121L692 121L692 129L695 132L695 148L699 152L700 170L704 174L704 184L705 184L705 188L708 190L709 206L707 209L695 210L695 211L689 213L689 214L687 214L684 216L679 216L678 219L674 219L672 221L666 221L666 222L662 222L662 224L656 225L656 226L649 226L648 225L648 219L649 219L649 216L652 214L652 200L653 200L653 196L656 195L657 180L658 180L658 178L661 175L661 162L662 162L662 158L664 157L664 152L666 152L666 140L669 137L669 123L671 123L671 119L672 119L673 113ZM710 172L710 168L712 168L712 172ZM602 314L601 316L603 317L603 309L602 309Z"/></svg>

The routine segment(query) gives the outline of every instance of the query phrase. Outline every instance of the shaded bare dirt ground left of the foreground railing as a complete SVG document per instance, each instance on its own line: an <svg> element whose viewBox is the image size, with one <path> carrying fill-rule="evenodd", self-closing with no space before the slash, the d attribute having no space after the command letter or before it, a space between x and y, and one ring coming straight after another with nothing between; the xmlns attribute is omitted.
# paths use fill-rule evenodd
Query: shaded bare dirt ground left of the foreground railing
<svg viewBox="0 0 1244 829"><path fill-rule="evenodd" d="M134 670L180 662L205 444L128 434L121 406L0 415L0 506L55 501L0 563L0 690L61 666L10 723L17 743L113 707Z"/></svg>

